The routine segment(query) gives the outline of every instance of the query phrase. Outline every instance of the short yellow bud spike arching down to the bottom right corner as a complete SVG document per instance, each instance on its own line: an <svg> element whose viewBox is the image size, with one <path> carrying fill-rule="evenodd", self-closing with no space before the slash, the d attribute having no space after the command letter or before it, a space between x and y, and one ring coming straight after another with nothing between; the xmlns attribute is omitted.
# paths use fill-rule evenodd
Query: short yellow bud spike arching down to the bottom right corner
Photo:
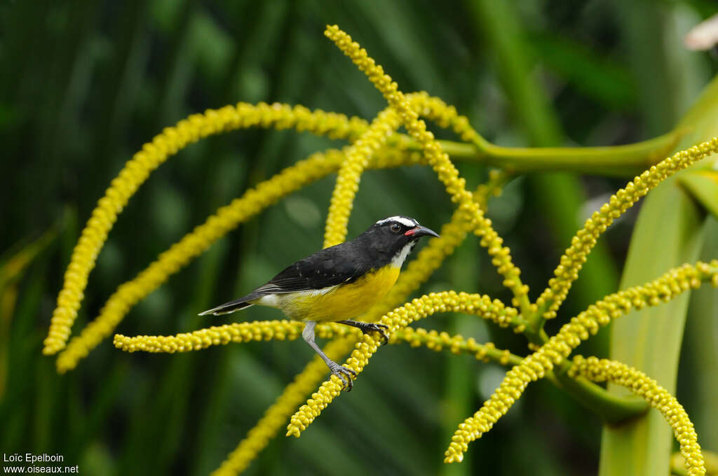
<svg viewBox="0 0 718 476"><path fill-rule="evenodd" d="M693 423L683 406L666 389L645 373L625 363L583 356L575 356L573 363L574 366L569 373L571 376L581 375L592 381L609 381L624 386L634 394L642 396L648 404L660 411L673 428L673 435L681 445L681 454L685 459L688 475L706 474L703 454Z"/></svg>

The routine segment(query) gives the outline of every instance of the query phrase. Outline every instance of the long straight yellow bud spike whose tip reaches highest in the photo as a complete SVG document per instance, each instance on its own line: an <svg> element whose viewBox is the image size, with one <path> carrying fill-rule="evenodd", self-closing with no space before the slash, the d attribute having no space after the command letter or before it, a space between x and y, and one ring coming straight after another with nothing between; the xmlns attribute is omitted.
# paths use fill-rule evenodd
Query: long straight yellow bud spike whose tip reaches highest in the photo
<svg viewBox="0 0 718 476"><path fill-rule="evenodd" d="M351 37L343 32L337 25L327 26L325 36L334 42L345 55L352 59L352 62L364 72L370 82L381 92L396 112L401 117L406 130L412 138L421 145L426 160L442 181L452 201L457 203L463 214L466 214L467 221L474 224L475 233L482 237L481 245L488 249L493 257L492 263L504 279L504 285L509 287L515 296L514 304L521 305L522 310L528 310L528 287L523 285L519 275L520 271L511 261L508 247L503 247L503 240L491 227L490 219L487 219L479 206L472 201L471 194L465 189L465 180L459 177L457 169L449 160L447 153L434 140L434 135L426 130L426 123L419 119L419 115L411 107L406 96L398 90L396 82L391 80L389 75L384 73L380 65L370 58L365 49L353 42Z"/></svg>

